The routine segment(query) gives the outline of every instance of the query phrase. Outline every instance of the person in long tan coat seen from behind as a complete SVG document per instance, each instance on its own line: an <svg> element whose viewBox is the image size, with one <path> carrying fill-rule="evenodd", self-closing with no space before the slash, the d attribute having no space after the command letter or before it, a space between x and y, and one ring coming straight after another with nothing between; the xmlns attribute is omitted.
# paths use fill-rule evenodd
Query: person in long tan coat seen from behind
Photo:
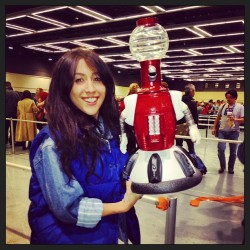
<svg viewBox="0 0 250 250"><path fill-rule="evenodd" d="M22 94L21 101L17 105L17 118L20 120L35 121L35 113L38 111L36 104L29 90L25 90ZM16 126L16 141L23 144L23 150L26 150L26 141L28 141L28 149L31 142L36 136L36 124L34 122L18 121Z"/></svg>

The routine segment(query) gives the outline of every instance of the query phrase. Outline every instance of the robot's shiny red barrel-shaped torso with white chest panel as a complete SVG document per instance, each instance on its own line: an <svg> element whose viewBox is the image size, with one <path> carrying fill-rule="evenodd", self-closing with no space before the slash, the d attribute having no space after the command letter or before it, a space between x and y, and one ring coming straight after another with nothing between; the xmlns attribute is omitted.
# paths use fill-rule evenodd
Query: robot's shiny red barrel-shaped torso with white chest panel
<svg viewBox="0 0 250 250"><path fill-rule="evenodd" d="M168 91L138 93L134 129L140 149L152 151L171 148L174 145L175 126L175 112Z"/></svg>

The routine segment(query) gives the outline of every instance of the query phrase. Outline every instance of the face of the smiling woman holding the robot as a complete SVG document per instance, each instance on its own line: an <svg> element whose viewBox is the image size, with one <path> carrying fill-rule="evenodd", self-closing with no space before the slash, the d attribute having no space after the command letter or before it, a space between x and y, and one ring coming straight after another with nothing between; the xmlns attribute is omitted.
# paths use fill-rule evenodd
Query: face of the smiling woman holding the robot
<svg viewBox="0 0 250 250"><path fill-rule="evenodd" d="M106 87L98 72L89 68L84 59L80 59L76 68L70 99L82 112L98 118L99 110L106 96Z"/></svg>

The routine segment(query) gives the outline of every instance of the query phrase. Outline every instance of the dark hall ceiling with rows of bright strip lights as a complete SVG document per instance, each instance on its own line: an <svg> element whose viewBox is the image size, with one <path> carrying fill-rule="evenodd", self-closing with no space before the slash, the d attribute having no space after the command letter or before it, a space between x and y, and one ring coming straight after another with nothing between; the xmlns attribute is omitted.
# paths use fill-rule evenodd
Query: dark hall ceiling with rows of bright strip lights
<svg viewBox="0 0 250 250"><path fill-rule="evenodd" d="M7 55L55 60L83 46L117 71L138 71L129 37L138 19L154 16L169 36L162 75L195 82L244 80L243 5L6 5L5 12Z"/></svg>

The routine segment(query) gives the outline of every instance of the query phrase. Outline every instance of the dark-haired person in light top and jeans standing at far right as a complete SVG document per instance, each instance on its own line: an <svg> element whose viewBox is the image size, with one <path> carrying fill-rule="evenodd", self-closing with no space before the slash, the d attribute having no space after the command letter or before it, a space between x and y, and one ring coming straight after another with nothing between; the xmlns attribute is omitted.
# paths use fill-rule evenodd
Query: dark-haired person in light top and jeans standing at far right
<svg viewBox="0 0 250 250"><path fill-rule="evenodd" d="M218 139L227 139L237 141L240 134L240 123L244 122L244 106L237 103L238 93L235 89L228 90L225 93L227 104L221 105L217 117L214 121L212 134L215 135L216 126L221 121ZM230 154L228 160L228 173L234 174L234 163L236 160L237 144L229 143ZM218 158L220 161L220 169L218 173L223 173L226 168L225 158L226 142L218 143Z"/></svg>

